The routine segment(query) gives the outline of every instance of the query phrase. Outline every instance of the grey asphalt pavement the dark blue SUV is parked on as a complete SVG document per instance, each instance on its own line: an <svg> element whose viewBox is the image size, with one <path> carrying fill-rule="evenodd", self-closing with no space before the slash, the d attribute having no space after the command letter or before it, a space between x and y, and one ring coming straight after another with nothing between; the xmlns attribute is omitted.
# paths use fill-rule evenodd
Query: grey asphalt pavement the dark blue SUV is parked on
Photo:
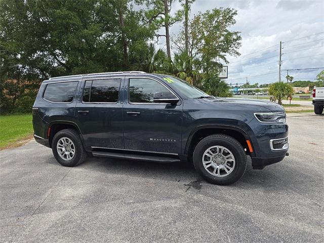
<svg viewBox="0 0 324 243"><path fill-rule="evenodd" d="M185 164L0 151L1 242L323 242L324 115L289 114L290 156L230 186Z"/></svg>

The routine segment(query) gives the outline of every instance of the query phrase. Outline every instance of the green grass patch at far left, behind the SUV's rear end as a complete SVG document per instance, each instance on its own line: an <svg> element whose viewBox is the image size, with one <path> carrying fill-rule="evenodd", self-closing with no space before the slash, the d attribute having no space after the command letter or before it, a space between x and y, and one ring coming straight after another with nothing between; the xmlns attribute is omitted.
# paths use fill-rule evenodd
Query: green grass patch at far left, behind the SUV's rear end
<svg viewBox="0 0 324 243"><path fill-rule="evenodd" d="M0 148L33 133L31 114L0 115Z"/></svg>

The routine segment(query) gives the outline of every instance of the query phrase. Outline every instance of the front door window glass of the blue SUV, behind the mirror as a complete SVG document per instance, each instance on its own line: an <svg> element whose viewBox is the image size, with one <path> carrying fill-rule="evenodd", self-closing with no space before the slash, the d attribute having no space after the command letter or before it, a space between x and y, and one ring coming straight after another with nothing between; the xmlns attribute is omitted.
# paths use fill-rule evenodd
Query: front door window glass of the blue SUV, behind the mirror
<svg viewBox="0 0 324 243"><path fill-rule="evenodd" d="M132 103L153 103L156 92L171 93L160 83L148 78L131 78L129 97ZM174 95L170 95L172 97Z"/></svg>

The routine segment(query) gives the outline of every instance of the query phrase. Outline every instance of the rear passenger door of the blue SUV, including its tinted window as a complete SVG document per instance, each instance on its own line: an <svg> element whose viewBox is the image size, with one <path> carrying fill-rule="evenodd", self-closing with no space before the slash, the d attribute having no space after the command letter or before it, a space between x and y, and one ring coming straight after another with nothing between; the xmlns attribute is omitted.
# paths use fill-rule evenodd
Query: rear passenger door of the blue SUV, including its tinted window
<svg viewBox="0 0 324 243"><path fill-rule="evenodd" d="M75 115L88 148L124 148L123 83L124 76L83 80Z"/></svg>

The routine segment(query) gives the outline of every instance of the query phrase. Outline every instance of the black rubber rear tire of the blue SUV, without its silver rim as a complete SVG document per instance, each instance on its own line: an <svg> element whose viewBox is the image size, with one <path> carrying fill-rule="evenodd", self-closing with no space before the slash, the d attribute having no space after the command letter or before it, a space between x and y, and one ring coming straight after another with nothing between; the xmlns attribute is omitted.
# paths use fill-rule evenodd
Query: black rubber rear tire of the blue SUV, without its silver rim
<svg viewBox="0 0 324 243"><path fill-rule="evenodd" d="M57 151L57 143L63 137L69 138L75 147L74 156L69 160L64 160L61 158ZM64 129L57 132L52 140L52 151L58 163L67 167L73 167L81 164L87 157L87 153L83 147L80 136L74 129Z"/></svg>

